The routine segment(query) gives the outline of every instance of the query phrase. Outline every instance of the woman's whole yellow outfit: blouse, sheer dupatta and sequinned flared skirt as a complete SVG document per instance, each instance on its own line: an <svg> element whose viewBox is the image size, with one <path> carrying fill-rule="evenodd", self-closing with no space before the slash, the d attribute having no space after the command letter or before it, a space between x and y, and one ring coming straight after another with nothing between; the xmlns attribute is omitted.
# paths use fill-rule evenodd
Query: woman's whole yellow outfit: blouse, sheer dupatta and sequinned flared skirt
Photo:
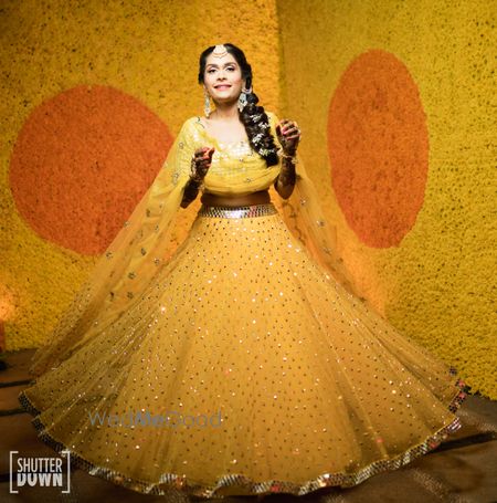
<svg viewBox="0 0 497 503"><path fill-rule="evenodd" d="M213 144L203 190L274 182L247 143L184 123L34 356L20 401L40 438L131 490L207 497L351 486L436 448L467 387L360 298L302 159L281 211L202 206L168 255L191 155Z"/></svg>

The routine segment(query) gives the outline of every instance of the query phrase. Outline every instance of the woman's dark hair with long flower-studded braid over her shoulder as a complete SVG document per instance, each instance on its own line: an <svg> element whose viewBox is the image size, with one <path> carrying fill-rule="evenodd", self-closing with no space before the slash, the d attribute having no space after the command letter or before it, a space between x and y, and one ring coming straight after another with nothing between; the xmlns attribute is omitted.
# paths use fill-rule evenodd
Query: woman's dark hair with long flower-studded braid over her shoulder
<svg viewBox="0 0 497 503"><path fill-rule="evenodd" d="M252 86L252 67L245 59L245 54L241 49L231 43L225 43L228 52L236 60L241 70L242 78L245 81L246 88ZM211 45L200 54L199 61L199 84L203 84L203 75L205 73L205 61L209 54L215 49ZM240 112L240 119L245 126L246 135L251 147L266 161L267 166L278 164L277 147L269 129L269 119L262 106L257 106L258 97L255 93L246 95L247 104Z"/></svg>

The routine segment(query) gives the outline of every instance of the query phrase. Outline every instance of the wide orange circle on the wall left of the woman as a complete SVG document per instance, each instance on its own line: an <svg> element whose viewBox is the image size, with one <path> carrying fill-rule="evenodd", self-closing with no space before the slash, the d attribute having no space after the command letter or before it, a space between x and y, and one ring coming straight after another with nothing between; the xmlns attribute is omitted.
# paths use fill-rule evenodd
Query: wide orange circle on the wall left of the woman
<svg viewBox="0 0 497 503"><path fill-rule="evenodd" d="M160 118L108 86L39 105L15 142L10 185L42 238L83 254L110 243L158 174L172 138Z"/></svg>

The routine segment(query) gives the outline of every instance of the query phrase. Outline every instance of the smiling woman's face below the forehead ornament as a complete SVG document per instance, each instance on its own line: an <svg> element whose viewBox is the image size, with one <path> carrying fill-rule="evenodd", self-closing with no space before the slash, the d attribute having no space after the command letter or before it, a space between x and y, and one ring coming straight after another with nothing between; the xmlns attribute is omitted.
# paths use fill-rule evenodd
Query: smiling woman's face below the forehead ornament
<svg viewBox="0 0 497 503"><path fill-rule="evenodd" d="M232 103L239 99L243 87L242 71L230 53L216 57L212 53L205 61L203 85L214 103Z"/></svg>

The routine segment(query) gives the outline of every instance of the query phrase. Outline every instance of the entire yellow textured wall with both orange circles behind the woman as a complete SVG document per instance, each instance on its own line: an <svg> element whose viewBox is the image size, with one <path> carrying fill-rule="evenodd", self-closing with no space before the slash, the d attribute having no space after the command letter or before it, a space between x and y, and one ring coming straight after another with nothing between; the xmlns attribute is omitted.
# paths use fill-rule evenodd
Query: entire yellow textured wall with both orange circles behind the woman
<svg viewBox="0 0 497 503"><path fill-rule="evenodd" d="M182 122L202 114L200 52L232 42L263 105L304 130L367 296L496 398L490 3L2 2L3 348L46 340Z"/></svg>

